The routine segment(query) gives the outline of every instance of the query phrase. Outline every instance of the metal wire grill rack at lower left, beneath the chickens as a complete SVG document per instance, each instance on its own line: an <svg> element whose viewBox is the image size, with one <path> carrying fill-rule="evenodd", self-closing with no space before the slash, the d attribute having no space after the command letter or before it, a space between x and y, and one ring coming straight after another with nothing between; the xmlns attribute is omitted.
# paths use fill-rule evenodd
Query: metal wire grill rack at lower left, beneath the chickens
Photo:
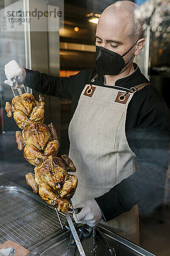
<svg viewBox="0 0 170 256"><path fill-rule="evenodd" d="M0 186L0 244L11 240L26 248L59 230L56 212L39 196L14 183Z"/></svg>

